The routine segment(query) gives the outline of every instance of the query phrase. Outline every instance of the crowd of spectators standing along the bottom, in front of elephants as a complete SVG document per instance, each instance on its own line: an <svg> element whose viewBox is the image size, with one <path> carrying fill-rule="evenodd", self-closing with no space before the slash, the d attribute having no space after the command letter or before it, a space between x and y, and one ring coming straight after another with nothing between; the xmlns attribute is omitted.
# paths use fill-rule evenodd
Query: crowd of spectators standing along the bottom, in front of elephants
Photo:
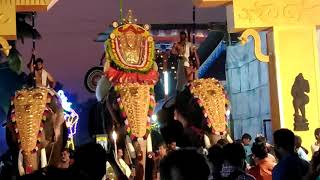
<svg viewBox="0 0 320 180"><path fill-rule="evenodd" d="M209 149L184 147L175 142L162 143L141 162L132 166L123 149L105 150L100 144L88 143L74 152L63 149L58 167L46 167L17 179L152 179L152 180L319 180L320 128L315 130L312 159L301 146L301 138L291 130L279 129L274 144L258 135L252 142L249 134L241 140L220 139ZM141 156L141 157L139 157Z"/></svg>

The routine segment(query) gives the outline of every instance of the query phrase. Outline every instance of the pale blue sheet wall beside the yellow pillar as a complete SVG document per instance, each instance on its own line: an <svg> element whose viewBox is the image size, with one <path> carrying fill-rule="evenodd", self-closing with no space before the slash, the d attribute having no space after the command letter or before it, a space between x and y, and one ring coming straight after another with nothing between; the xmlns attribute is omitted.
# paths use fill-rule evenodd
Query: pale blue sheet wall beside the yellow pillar
<svg viewBox="0 0 320 180"><path fill-rule="evenodd" d="M261 34L266 52L266 34ZM231 128L235 139L249 133L253 138L264 133L263 120L270 119L268 64L256 59L252 39L242 46L227 47L226 88L231 100ZM267 137L271 136L270 124ZM270 138L271 139L271 138Z"/></svg>

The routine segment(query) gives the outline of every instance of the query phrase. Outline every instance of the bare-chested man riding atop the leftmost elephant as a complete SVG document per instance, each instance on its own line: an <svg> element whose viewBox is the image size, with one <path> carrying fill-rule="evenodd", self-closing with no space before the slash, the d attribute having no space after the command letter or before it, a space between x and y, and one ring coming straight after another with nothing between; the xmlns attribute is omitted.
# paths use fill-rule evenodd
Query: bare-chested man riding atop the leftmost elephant
<svg viewBox="0 0 320 180"><path fill-rule="evenodd" d="M44 69L43 60L37 58L34 62L34 55L29 64L30 73L33 74L36 87L50 87L56 86L54 78Z"/></svg>

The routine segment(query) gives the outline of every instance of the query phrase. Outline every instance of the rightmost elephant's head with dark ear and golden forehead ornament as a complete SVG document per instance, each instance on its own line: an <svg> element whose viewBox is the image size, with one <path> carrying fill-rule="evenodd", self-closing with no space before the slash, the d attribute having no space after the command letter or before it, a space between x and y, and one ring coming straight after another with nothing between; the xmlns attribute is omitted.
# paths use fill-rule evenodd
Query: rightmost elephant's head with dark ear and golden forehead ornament
<svg viewBox="0 0 320 180"><path fill-rule="evenodd" d="M161 133L167 142L181 147L209 148L219 139L228 139L229 101L215 79L198 79L159 111Z"/></svg>

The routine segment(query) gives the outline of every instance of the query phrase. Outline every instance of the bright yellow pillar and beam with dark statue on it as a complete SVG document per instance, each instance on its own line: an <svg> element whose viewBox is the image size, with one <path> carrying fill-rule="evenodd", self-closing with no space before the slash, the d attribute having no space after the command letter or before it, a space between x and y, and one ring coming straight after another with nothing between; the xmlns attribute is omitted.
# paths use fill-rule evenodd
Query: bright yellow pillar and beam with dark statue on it
<svg viewBox="0 0 320 180"><path fill-rule="evenodd" d="M320 1L315 0L194 0L199 7L225 5L229 32L245 31L246 41L255 30L268 32L273 129L289 128L310 147L314 129L320 127L320 62L316 26L320 25ZM247 30L249 29L249 30ZM268 56L268 57L266 57ZM262 58L260 58L262 57Z"/></svg>

